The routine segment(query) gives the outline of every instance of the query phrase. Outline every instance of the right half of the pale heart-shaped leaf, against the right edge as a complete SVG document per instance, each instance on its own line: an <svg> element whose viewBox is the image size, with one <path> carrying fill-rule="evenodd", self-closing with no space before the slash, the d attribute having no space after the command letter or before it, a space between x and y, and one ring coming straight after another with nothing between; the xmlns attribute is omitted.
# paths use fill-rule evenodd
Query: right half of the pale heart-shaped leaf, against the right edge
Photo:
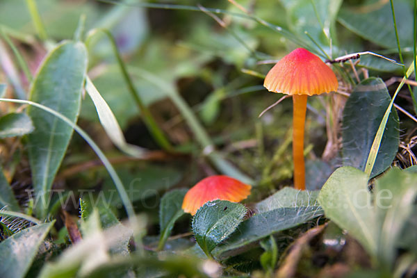
<svg viewBox="0 0 417 278"><path fill-rule="evenodd" d="M416 212L417 174L393 168L375 181L374 202L377 208L379 242L377 254L379 260L393 263L397 256L399 240L408 220ZM411 230L406 233L415 234ZM405 250L413 248L415 242L409 242Z"/></svg>

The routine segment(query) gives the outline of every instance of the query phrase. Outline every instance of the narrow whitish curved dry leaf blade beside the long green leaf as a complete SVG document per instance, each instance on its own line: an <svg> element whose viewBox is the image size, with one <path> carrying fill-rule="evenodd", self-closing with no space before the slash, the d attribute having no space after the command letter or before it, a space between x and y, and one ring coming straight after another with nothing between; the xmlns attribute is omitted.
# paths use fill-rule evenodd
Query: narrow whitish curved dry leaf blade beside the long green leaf
<svg viewBox="0 0 417 278"><path fill-rule="evenodd" d="M123 152L130 154L131 156L141 157L143 156L145 149L137 147L135 145L130 145L124 139L122 129L117 123L116 117L111 111L111 108L108 106L106 101L101 97L97 88L92 83L92 81L87 78L85 81L85 90L88 92L88 95L91 97L92 102L95 105L97 114L99 115L99 120L101 125L104 127L104 130L107 133L107 136L111 141ZM125 99L124 99L125 100Z"/></svg>

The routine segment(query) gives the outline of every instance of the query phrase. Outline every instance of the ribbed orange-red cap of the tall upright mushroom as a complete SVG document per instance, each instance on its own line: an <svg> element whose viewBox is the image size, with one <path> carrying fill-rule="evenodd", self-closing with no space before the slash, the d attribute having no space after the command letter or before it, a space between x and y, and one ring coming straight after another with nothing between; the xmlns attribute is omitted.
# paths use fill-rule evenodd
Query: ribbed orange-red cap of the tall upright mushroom
<svg viewBox="0 0 417 278"><path fill-rule="evenodd" d="M318 56L297 48L272 67L263 86L286 95L319 95L336 91L338 82L332 69Z"/></svg>

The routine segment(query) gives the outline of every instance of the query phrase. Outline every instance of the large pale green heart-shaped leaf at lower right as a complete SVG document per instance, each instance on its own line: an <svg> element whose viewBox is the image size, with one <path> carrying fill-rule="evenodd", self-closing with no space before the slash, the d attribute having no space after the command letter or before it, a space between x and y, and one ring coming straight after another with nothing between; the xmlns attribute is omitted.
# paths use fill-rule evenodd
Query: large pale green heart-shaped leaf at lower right
<svg viewBox="0 0 417 278"><path fill-rule="evenodd" d="M391 268L398 248L413 250L411 216L417 211L417 174L393 168L375 180L352 167L341 167L323 186L318 200L327 218L356 238L384 268ZM411 224L411 225L410 225ZM405 233L404 233L405 232Z"/></svg>

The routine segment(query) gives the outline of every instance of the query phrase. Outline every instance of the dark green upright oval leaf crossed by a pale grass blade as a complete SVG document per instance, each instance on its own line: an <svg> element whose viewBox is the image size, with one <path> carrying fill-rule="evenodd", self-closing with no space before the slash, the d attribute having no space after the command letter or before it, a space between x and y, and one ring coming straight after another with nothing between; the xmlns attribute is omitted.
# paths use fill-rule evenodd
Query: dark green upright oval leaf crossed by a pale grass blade
<svg viewBox="0 0 417 278"><path fill-rule="evenodd" d="M370 148L390 101L382 79L365 79L354 88L343 111L343 165L365 170ZM393 108L371 177L384 172L391 165L400 144L399 129L398 115Z"/></svg>

